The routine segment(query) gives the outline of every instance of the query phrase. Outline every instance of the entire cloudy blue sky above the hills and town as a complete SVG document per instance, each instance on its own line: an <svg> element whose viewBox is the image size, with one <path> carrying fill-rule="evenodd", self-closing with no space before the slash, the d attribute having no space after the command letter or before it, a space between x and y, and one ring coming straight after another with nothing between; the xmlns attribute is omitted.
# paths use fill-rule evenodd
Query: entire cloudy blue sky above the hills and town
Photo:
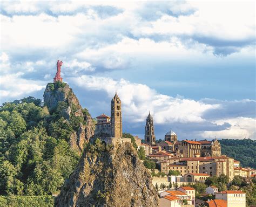
<svg viewBox="0 0 256 207"><path fill-rule="evenodd" d="M43 99L57 60L92 117L117 91L144 139L256 140L254 1L1 1L0 102Z"/></svg>

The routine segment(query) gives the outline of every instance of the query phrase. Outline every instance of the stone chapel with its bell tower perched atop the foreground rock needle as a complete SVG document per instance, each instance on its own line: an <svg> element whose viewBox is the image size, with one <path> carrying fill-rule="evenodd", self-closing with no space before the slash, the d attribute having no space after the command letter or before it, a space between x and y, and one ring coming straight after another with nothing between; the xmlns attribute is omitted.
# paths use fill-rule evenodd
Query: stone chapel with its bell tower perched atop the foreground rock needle
<svg viewBox="0 0 256 207"><path fill-rule="evenodd" d="M111 116L102 114L97 116L95 137L122 137L122 110L121 100L117 92L111 100Z"/></svg>

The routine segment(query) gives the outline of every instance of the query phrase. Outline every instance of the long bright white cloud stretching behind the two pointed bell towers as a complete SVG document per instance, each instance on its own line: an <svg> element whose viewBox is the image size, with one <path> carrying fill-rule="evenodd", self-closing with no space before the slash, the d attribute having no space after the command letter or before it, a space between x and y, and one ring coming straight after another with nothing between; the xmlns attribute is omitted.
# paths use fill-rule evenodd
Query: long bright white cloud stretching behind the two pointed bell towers
<svg viewBox="0 0 256 207"><path fill-rule="evenodd" d="M219 105L159 94L146 85L124 79L116 81L111 78L83 75L69 80L89 90L106 91L109 97L117 91L122 99L126 119L132 122L144 121L149 111L154 115L156 123L203 122L205 120L202 115L205 111L219 107Z"/></svg>

